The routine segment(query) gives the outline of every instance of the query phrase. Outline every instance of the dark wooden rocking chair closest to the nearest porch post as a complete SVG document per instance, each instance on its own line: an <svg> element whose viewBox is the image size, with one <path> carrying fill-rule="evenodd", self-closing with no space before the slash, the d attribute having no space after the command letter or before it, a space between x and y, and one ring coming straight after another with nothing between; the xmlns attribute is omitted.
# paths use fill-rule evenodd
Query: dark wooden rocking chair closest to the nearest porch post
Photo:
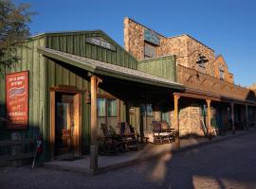
<svg viewBox="0 0 256 189"><path fill-rule="evenodd" d="M101 139L100 151L104 154L107 152L117 153L124 150L124 142L118 136L112 136L107 125L103 123L101 123Z"/></svg>

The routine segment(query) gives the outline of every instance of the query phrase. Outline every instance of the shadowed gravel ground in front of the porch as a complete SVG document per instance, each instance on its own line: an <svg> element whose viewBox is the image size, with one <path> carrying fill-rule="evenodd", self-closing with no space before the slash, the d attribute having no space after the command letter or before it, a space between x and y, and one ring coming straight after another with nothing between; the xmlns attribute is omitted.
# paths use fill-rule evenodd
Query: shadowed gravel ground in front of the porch
<svg viewBox="0 0 256 189"><path fill-rule="evenodd" d="M256 133L166 155L101 175L44 167L0 169L0 189L256 189Z"/></svg>

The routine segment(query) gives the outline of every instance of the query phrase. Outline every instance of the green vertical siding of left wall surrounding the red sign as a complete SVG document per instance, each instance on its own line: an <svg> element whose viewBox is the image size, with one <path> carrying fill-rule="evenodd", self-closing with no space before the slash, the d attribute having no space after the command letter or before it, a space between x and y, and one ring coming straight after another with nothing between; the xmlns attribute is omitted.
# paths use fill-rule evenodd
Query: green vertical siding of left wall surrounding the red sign
<svg viewBox="0 0 256 189"><path fill-rule="evenodd" d="M9 139L11 132L20 132L22 138L35 139L43 134L46 128L46 64L45 58L37 53L38 46L45 46L45 38L36 38L18 47L20 60L10 67L1 65L0 77L0 117L6 117L6 86L5 79L9 73L29 71L29 112L28 129L7 130L5 124L0 124L0 139Z"/></svg>

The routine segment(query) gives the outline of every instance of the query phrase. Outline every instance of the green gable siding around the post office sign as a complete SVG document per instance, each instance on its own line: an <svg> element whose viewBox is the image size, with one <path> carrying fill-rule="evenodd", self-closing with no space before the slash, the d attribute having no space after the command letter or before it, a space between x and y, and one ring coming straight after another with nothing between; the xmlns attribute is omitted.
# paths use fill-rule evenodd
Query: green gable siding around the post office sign
<svg viewBox="0 0 256 189"><path fill-rule="evenodd" d="M85 39L88 37L102 37L116 46L117 51L86 43ZM46 34L46 42L47 48L137 69L137 60L101 31L48 33Z"/></svg>

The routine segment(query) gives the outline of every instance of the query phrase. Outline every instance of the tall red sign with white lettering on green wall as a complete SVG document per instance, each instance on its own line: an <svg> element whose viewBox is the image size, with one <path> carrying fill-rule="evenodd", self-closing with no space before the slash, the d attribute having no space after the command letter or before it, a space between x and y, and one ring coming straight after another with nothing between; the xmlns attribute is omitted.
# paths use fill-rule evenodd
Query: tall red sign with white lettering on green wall
<svg viewBox="0 0 256 189"><path fill-rule="evenodd" d="M28 71L6 76L7 128L27 129Z"/></svg>

